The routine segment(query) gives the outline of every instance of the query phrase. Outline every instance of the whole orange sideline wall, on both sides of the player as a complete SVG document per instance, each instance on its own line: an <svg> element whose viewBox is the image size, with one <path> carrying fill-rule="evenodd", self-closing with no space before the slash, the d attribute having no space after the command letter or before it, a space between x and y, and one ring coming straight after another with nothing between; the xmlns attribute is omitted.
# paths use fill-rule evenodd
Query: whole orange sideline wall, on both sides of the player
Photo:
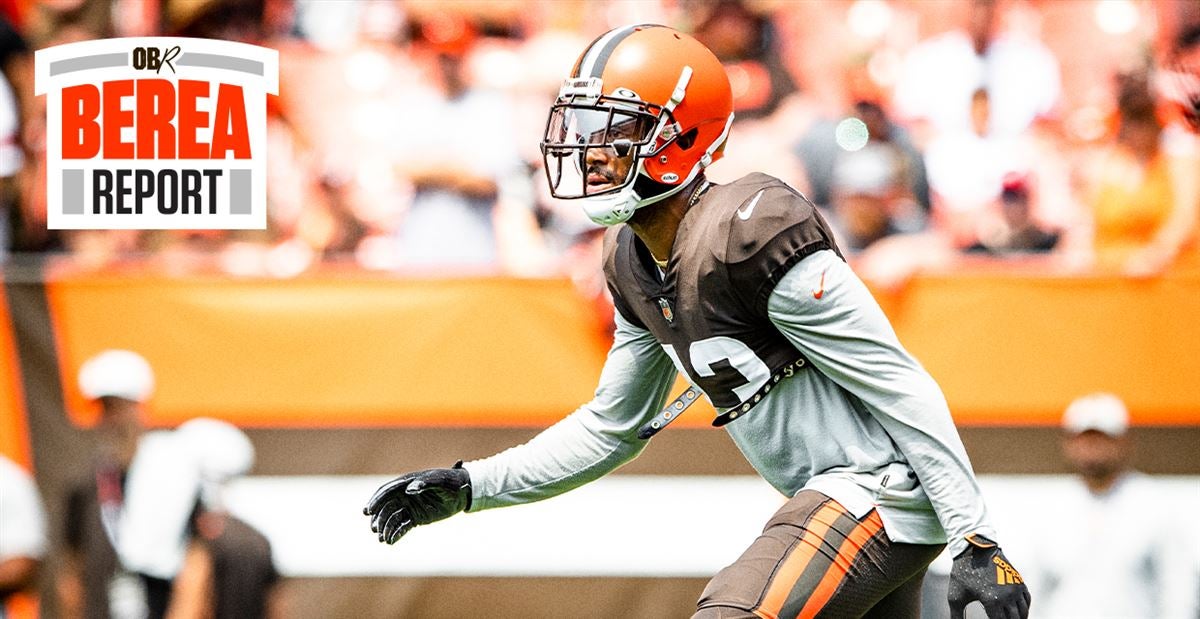
<svg viewBox="0 0 1200 619"><path fill-rule="evenodd" d="M95 413L74 375L110 347L155 367L152 425L204 414L244 426L479 427L560 419L590 397L608 344L565 280L48 280L78 425ZM1200 272L956 271L877 296L961 425L1054 425L1073 397L1096 390L1126 398L1135 423L1200 425ZM710 419L692 410L679 425Z"/></svg>

